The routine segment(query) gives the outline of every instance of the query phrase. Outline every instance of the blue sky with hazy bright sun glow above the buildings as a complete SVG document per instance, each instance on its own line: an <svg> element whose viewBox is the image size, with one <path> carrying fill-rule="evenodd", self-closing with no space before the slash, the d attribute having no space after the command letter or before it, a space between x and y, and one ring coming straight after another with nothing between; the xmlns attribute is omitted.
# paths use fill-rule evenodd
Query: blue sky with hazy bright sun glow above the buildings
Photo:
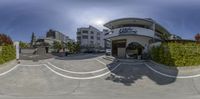
<svg viewBox="0 0 200 99"><path fill-rule="evenodd" d="M0 33L30 41L55 29L76 38L76 29L117 18L153 18L171 33L194 39L200 32L199 0L0 0Z"/></svg>

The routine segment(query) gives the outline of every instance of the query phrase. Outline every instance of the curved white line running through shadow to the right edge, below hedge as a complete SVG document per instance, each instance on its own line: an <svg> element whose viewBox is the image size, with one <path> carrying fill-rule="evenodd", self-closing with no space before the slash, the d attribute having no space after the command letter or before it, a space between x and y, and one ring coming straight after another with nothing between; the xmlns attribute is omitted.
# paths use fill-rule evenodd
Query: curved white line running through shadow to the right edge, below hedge
<svg viewBox="0 0 200 99"><path fill-rule="evenodd" d="M168 74L165 74L165 73L161 73L157 70L155 70L154 68L152 68L151 66L149 66L148 64L144 63L150 70L160 74L160 75L163 75L163 76L166 76L166 77L170 77L170 78L195 78L195 77L200 77L200 74L197 74L197 75L191 75L191 76L173 76L173 75L168 75Z"/></svg>

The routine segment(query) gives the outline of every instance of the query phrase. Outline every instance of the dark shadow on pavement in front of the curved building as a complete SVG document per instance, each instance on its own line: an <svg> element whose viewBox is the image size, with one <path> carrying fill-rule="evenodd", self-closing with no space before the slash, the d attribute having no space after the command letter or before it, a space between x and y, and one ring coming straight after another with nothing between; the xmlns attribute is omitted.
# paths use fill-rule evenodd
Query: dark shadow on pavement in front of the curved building
<svg viewBox="0 0 200 99"><path fill-rule="evenodd" d="M109 64L109 69L111 74L106 78L106 80L113 81L115 83L122 83L125 86L131 86L137 80L144 79L144 77L151 79L158 85L167 85L176 81L176 78L169 78L160 75L152 70L150 70L144 64L121 64L118 68L112 71L112 68L116 66L117 63ZM119 64L119 62L118 62ZM173 76L177 76L178 70L173 69ZM148 81L148 80L147 80Z"/></svg>

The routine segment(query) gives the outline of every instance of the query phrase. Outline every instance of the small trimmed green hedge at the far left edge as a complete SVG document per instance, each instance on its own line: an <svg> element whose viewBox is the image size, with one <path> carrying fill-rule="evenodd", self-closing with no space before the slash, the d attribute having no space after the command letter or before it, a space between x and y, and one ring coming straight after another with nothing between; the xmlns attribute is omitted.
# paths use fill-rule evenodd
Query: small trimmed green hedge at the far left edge
<svg viewBox="0 0 200 99"><path fill-rule="evenodd" d="M0 46L0 64L15 59L15 47L12 45Z"/></svg>

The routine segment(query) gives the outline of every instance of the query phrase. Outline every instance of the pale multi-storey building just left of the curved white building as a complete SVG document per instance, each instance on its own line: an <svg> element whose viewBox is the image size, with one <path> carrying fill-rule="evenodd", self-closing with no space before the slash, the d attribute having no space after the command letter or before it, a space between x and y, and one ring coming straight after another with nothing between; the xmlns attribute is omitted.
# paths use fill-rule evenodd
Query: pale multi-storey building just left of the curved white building
<svg viewBox="0 0 200 99"><path fill-rule="evenodd" d="M103 49L105 47L104 36L104 32L93 26L77 29L77 42L80 43L82 48Z"/></svg>

